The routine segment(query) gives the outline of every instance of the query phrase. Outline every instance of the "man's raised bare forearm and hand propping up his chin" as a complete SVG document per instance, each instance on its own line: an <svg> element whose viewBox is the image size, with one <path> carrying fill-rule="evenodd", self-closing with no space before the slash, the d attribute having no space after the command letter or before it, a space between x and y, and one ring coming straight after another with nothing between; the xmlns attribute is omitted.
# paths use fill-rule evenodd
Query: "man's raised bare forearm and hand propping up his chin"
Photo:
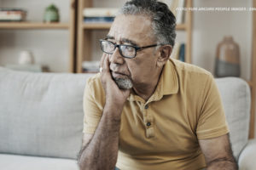
<svg viewBox="0 0 256 170"><path fill-rule="evenodd" d="M113 170L117 161L120 117L130 90L119 89L113 81L109 71L108 57L107 54L103 54L101 62L101 79L106 104L95 133L84 133L83 147L78 159L81 170Z"/></svg>

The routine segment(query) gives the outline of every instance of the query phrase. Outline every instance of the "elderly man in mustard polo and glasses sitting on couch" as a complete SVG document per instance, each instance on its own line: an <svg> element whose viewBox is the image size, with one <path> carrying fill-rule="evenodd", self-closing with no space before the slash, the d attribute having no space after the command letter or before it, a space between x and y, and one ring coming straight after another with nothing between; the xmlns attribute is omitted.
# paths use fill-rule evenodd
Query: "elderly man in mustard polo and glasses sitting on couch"
<svg viewBox="0 0 256 170"><path fill-rule="evenodd" d="M175 22L156 0L121 8L84 90L81 170L237 169L212 75L170 59Z"/></svg>

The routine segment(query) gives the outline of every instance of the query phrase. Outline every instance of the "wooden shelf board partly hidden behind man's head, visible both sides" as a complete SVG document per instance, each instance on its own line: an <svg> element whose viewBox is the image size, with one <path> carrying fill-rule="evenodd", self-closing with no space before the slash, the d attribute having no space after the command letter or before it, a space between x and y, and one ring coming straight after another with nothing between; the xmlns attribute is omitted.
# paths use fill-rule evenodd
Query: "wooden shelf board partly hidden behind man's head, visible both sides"
<svg viewBox="0 0 256 170"><path fill-rule="evenodd" d="M110 26L112 25L112 22L110 23L84 23L82 27L86 30L108 30L110 29ZM176 29L177 31L185 31L187 26L185 24L177 25Z"/></svg>

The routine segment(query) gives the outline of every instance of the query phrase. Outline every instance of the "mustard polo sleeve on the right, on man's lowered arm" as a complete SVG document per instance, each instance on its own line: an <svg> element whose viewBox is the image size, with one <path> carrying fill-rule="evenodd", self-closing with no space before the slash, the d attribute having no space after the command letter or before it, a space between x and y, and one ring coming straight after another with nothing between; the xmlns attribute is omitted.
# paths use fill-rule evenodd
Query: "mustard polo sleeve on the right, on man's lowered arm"
<svg viewBox="0 0 256 170"><path fill-rule="evenodd" d="M212 76L207 77L201 99L201 112L196 127L197 138L212 139L229 133L224 107Z"/></svg>

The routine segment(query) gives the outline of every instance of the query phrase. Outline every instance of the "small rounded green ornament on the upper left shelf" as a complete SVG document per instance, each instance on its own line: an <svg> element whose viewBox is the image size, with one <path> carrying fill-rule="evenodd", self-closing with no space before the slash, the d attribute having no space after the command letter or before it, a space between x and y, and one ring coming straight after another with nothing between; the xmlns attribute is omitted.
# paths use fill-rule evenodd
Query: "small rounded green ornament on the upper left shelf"
<svg viewBox="0 0 256 170"><path fill-rule="evenodd" d="M44 12L44 22L59 22L59 9L54 4L49 5Z"/></svg>

